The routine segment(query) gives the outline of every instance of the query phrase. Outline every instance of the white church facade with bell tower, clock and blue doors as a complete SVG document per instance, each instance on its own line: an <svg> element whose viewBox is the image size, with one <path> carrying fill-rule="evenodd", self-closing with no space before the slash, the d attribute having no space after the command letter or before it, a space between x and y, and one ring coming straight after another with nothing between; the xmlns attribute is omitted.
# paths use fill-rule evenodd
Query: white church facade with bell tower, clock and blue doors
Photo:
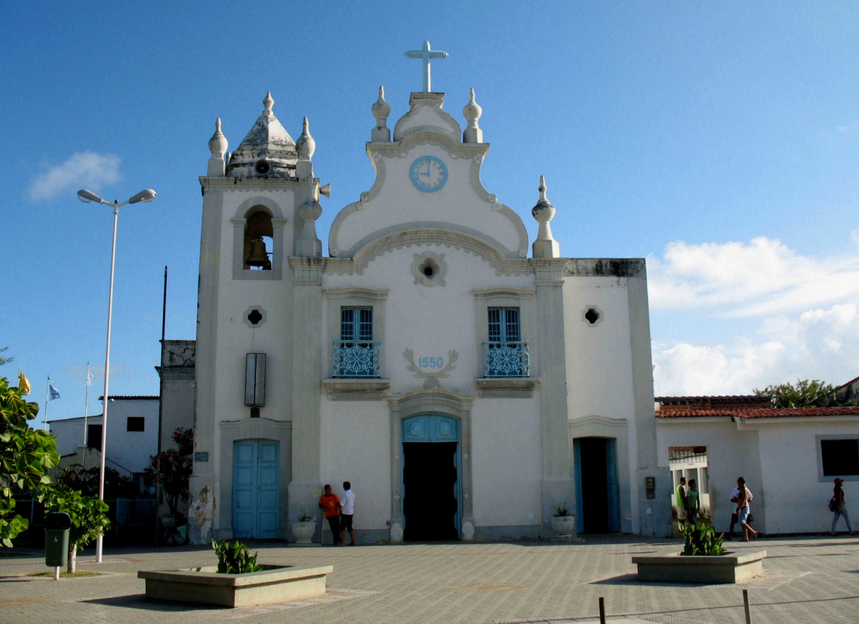
<svg viewBox="0 0 859 624"><path fill-rule="evenodd" d="M365 543L549 538L564 504L580 531L670 531L644 260L563 257L542 179L529 242L481 184L473 91L464 131L444 99L412 93L392 132L380 89L375 181L327 254L307 119L293 141L266 95L232 153L218 120L200 178L192 541L291 541L304 515L330 540L317 501L344 480Z"/></svg>

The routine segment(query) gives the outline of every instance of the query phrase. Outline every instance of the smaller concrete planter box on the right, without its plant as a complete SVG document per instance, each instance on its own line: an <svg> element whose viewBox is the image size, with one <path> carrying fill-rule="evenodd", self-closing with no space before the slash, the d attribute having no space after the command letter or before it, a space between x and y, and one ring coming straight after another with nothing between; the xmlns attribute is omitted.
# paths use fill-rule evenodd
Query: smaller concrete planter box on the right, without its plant
<svg viewBox="0 0 859 624"><path fill-rule="evenodd" d="M764 573L766 551L709 556L672 553L657 557L633 557L642 581L671 583L742 583Z"/></svg>

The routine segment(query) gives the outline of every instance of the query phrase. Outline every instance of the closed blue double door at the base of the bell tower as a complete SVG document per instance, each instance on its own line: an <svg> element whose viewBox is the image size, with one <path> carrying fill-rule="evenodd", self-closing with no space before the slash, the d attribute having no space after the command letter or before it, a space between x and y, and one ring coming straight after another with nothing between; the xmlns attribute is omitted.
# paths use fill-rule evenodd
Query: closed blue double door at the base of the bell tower
<svg viewBox="0 0 859 624"><path fill-rule="evenodd" d="M233 443L233 536L277 538L280 511L280 443Z"/></svg>

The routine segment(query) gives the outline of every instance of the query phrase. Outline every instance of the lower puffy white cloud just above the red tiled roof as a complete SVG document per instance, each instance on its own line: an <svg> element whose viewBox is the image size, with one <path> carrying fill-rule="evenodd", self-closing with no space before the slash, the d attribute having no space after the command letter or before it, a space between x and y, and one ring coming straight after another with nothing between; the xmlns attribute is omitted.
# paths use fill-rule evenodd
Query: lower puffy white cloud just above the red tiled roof
<svg viewBox="0 0 859 624"><path fill-rule="evenodd" d="M856 303L766 318L753 338L736 337L730 346L655 344L655 394L747 395L808 378L838 385L859 374L857 346Z"/></svg>

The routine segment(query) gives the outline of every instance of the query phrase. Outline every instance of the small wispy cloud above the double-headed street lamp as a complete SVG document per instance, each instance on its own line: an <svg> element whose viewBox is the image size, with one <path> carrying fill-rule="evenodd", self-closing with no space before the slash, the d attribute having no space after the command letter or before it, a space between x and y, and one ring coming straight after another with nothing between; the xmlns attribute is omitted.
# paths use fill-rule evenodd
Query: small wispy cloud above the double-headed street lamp
<svg viewBox="0 0 859 624"><path fill-rule="evenodd" d="M102 186L115 184L119 174L119 156L97 154L93 151L76 152L68 160L48 168L30 179L30 199L52 199L80 187L98 191Z"/></svg>

